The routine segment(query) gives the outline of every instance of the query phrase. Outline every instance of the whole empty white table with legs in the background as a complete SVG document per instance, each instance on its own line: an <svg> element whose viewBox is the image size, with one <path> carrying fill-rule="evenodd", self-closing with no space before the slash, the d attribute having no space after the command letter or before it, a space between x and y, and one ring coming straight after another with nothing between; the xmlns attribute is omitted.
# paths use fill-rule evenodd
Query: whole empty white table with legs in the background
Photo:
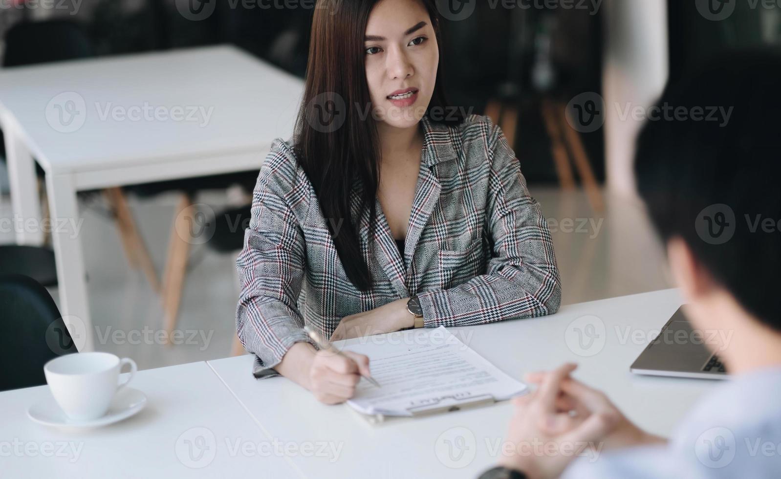
<svg viewBox="0 0 781 479"><path fill-rule="evenodd" d="M51 217L77 222L77 191L259 169L273 138L291 136L302 92L298 77L230 46L0 70L13 212L30 225L17 241L43 238L34 159ZM52 234L60 309L91 350L75 224Z"/></svg>

